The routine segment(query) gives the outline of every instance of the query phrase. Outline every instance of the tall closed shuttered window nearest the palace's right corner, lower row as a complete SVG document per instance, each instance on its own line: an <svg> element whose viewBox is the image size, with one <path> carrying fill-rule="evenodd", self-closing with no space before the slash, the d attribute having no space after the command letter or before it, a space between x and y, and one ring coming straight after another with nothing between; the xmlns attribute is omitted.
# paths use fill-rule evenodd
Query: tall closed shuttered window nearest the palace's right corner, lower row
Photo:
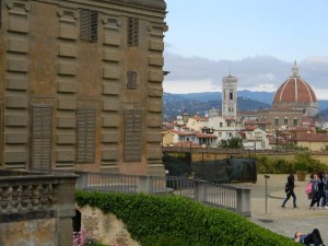
<svg viewBox="0 0 328 246"><path fill-rule="evenodd" d="M141 161L141 110L125 112L125 144L126 162Z"/></svg>

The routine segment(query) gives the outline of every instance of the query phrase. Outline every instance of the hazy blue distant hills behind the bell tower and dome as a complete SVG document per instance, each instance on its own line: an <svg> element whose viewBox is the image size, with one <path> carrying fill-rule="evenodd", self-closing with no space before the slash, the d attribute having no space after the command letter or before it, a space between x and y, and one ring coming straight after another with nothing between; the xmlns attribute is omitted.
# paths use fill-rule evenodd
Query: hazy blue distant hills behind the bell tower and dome
<svg viewBox="0 0 328 246"><path fill-rule="evenodd" d="M238 91L237 109L243 112L269 108L272 104L273 92ZM202 92L188 94L164 93L163 114L164 118L172 120L181 115L186 109L190 115L204 115L209 109L221 109L220 92ZM318 101L320 117L328 119L328 101ZM327 109L327 110L325 110Z"/></svg>

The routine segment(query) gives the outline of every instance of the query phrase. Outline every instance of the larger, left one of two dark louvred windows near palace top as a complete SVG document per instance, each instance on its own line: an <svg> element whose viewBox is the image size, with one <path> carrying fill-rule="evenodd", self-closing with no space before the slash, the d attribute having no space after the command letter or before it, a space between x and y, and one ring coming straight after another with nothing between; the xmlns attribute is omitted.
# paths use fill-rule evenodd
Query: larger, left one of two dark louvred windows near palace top
<svg viewBox="0 0 328 246"><path fill-rule="evenodd" d="M96 42L98 38L98 12L81 10L81 39Z"/></svg>

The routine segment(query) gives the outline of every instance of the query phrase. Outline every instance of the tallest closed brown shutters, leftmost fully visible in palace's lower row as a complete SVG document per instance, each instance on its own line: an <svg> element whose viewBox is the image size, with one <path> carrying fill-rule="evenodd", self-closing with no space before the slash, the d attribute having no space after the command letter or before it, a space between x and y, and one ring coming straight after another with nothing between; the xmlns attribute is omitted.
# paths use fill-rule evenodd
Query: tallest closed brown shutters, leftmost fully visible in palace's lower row
<svg viewBox="0 0 328 246"><path fill-rule="evenodd" d="M52 110L50 105L32 106L32 167L51 168Z"/></svg>

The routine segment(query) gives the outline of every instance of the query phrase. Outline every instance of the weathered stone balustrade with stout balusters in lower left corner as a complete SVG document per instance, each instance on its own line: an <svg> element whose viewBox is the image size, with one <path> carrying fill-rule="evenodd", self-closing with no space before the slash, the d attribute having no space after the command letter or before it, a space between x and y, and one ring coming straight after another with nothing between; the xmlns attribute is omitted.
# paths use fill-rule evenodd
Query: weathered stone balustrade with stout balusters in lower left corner
<svg viewBox="0 0 328 246"><path fill-rule="evenodd" d="M0 245L71 245L77 178L0 171Z"/></svg>

